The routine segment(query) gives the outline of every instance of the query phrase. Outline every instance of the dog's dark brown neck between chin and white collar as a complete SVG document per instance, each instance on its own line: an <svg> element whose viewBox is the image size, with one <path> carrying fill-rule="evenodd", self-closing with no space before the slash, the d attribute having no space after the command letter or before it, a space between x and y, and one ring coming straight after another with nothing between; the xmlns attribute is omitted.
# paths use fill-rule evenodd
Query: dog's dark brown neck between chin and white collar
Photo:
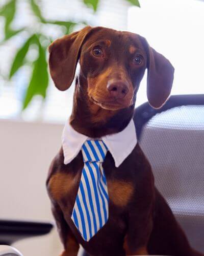
<svg viewBox="0 0 204 256"><path fill-rule="evenodd" d="M87 81L84 77L76 79L73 108L70 124L73 129L91 138L121 132L130 122L134 105L112 111L93 103L87 95Z"/></svg>

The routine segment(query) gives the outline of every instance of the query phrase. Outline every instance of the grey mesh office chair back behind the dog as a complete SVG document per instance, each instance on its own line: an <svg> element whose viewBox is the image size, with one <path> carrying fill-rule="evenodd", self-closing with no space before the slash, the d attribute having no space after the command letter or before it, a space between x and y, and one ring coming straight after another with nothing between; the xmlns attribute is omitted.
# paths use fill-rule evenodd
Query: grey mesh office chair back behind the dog
<svg viewBox="0 0 204 256"><path fill-rule="evenodd" d="M172 96L158 111L146 103L135 123L157 188L191 245L204 252L204 95Z"/></svg>

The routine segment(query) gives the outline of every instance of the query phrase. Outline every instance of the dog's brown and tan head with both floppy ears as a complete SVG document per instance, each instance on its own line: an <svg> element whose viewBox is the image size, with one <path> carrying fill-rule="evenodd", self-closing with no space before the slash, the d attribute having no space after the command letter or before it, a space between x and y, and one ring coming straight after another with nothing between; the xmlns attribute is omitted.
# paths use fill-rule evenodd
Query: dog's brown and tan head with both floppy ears
<svg viewBox="0 0 204 256"><path fill-rule="evenodd" d="M90 101L103 109L119 110L135 103L147 68L147 98L160 108L171 91L174 69L140 35L103 27L85 27L49 46L50 74L59 90L67 90L80 61Z"/></svg>

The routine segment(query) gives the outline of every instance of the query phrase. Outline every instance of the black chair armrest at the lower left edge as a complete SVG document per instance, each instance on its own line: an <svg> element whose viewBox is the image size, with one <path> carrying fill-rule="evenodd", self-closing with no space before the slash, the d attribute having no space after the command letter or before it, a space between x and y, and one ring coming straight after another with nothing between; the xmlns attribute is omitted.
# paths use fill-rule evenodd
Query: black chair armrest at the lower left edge
<svg viewBox="0 0 204 256"><path fill-rule="evenodd" d="M24 238L42 236L52 228L53 224L48 222L0 220L0 244L11 245Z"/></svg>

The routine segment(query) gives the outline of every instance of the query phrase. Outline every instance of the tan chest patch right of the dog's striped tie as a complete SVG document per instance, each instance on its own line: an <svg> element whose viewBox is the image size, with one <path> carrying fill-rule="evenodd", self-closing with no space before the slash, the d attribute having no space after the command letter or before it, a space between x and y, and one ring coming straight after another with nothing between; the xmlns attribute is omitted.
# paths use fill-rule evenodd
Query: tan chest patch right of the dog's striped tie
<svg viewBox="0 0 204 256"><path fill-rule="evenodd" d="M125 206L129 203L134 192L134 186L131 182L107 180L107 184L109 198L115 205Z"/></svg>

